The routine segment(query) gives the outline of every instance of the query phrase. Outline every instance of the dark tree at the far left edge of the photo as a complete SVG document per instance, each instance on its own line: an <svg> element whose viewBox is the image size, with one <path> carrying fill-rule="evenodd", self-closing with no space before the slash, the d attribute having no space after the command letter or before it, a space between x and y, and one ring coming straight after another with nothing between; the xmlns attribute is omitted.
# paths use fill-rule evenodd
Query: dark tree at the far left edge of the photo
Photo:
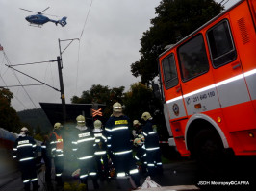
<svg viewBox="0 0 256 192"><path fill-rule="evenodd" d="M11 106L13 93L6 88L0 88L0 127L9 132L19 132L20 120L16 110Z"/></svg>

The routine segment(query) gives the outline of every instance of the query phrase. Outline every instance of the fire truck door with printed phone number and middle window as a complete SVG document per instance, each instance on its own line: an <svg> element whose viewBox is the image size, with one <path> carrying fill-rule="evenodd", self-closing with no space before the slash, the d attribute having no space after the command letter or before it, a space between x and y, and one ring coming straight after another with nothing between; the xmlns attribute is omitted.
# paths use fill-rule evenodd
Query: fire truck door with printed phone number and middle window
<svg viewBox="0 0 256 192"><path fill-rule="evenodd" d="M188 115L219 109L218 94L203 36L193 36L178 48L177 53Z"/></svg>

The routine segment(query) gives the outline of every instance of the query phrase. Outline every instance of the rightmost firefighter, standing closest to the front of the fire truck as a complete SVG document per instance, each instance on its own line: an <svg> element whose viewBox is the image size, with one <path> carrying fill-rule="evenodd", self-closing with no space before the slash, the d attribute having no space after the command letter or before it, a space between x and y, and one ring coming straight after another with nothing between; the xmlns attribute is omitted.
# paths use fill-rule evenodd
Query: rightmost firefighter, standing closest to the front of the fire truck
<svg viewBox="0 0 256 192"><path fill-rule="evenodd" d="M142 133L145 137L147 171L149 176L154 176L163 171L157 127L149 112L144 112L141 119L145 121Z"/></svg>

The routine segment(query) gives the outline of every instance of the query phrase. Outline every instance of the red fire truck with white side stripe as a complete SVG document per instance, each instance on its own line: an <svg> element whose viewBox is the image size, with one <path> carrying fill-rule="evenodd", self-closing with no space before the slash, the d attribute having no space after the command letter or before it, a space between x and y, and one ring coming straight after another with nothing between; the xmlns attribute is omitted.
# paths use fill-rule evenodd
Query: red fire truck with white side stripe
<svg viewBox="0 0 256 192"><path fill-rule="evenodd" d="M166 125L181 156L256 155L256 0L241 0L159 56Z"/></svg>

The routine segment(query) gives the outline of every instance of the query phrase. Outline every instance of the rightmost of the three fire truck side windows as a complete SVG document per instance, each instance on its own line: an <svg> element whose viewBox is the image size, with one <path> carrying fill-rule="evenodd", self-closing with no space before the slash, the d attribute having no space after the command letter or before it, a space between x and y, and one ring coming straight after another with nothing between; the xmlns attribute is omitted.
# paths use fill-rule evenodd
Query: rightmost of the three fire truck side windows
<svg viewBox="0 0 256 192"><path fill-rule="evenodd" d="M211 58L215 68L236 59L237 53L227 20L221 21L207 32Z"/></svg>

